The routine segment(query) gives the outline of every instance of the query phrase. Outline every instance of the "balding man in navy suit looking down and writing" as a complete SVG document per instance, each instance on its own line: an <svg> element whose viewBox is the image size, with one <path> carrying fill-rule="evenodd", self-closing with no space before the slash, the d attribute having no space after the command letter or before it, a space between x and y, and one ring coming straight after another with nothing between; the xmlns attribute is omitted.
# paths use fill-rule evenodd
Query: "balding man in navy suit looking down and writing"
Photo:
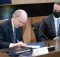
<svg viewBox="0 0 60 57"><path fill-rule="evenodd" d="M27 22L27 13L18 9L11 20L0 24L0 49L14 46L27 46L23 43L23 26Z"/></svg>

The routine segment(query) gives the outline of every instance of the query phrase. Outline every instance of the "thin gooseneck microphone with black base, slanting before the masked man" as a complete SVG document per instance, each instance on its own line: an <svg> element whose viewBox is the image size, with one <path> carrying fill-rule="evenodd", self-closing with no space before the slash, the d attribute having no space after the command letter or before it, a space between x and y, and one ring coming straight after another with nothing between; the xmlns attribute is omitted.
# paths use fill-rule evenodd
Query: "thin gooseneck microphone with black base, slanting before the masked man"
<svg viewBox="0 0 60 57"><path fill-rule="evenodd" d="M35 24L35 25L33 24L32 27L33 27L33 30L34 30L34 29L38 30L38 31L47 39L48 50L49 50L49 51L55 50L55 47L54 47L54 46L52 46L52 47L50 46L48 37L38 28L38 27L41 27L41 26L40 26L40 23Z"/></svg>

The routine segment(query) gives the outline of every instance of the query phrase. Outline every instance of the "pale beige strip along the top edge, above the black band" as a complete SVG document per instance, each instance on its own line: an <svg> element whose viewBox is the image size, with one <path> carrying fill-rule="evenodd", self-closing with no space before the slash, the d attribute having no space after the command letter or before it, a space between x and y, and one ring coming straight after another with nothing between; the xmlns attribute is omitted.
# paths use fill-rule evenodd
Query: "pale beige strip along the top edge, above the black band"
<svg viewBox="0 0 60 57"><path fill-rule="evenodd" d="M11 1L12 1L12 4L60 2L60 0L11 0Z"/></svg>

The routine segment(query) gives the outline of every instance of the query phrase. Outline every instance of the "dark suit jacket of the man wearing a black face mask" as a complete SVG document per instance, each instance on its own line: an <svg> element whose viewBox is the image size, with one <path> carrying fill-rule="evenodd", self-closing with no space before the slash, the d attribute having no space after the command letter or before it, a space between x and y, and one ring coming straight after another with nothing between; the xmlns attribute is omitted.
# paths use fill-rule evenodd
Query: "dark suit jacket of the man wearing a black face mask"
<svg viewBox="0 0 60 57"><path fill-rule="evenodd" d="M47 18L43 19L39 28L39 38L38 41L52 40L56 37L55 24L53 14L49 15ZM45 36L41 33L45 34Z"/></svg>

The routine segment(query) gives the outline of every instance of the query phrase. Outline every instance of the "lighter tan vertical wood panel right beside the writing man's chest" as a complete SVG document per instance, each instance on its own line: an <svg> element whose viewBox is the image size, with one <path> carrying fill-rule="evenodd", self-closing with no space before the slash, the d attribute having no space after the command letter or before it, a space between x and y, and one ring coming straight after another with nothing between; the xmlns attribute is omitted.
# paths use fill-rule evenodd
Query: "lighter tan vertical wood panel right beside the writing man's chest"
<svg viewBox="0 0 60 57"><path fill-rule="evenodd" d="M31 19L28 18L28 21L24 27L24 33L23 33L23 40L24 43L30 43L31 42Z"/></svg>

